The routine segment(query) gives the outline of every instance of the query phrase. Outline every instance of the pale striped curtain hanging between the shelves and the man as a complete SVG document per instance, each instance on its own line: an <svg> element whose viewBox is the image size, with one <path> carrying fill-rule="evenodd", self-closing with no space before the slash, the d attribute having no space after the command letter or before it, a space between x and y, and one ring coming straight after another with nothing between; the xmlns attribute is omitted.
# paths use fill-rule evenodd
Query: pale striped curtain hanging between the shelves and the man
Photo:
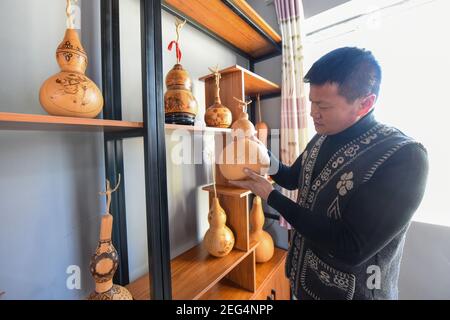
<svg viewBox="0 0 450 320"><path fill-rule="evenodd" d="M303 5L301 0L275 0L278 23L283 38L281 91L281 161L291 165L306 147L307 110L303 83ZM293 201L297 191L282 190ZM280 217L280 225L291 226Z"/></svg>

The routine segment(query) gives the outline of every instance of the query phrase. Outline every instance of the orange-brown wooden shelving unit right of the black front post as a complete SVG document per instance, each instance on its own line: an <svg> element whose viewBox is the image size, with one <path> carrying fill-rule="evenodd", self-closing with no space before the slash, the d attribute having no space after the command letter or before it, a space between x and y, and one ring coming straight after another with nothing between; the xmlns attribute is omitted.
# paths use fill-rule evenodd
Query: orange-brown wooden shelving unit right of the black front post
<svg viewBox="0 0 450 320"><path fill-rule="evenodd" d="M279 85L252 71L255 63L281 53L281 37L245 1L165 0L162 1L162 8L179 18L186 18L192 26L249 60L250 70L234 65L220 71L222 103L231 110L233 121L240 112L233 97L244 100L257 94L280 94ZM205 105L210 106L214 102L214 78L206 75L200 79L205 82ZM175 130L186 130L193 134L213 133L216 139L216 154L220 151L218 146L225 146L231 133L230 129L164 125L166 134ZM217 139L223 139L223 143L217 143ZM169 266L171 269L170 276L163 270L163 280L165 285L170 285L171 298L289 299L289 283L284 277L286 251L275 249L275 254L269 262L256 264L255 251L258 244L250 242L251 192L231 186L218 168L216 182L219 202L227 214L227 226L235 236L234 248L227 256L216 258L209 255L202 244L199 244L171 259L169 263L169 247L167 244L163 245L162 251L167 261L167 268L163 269L169 269ZM214 197L213 187L205 186L203 190L209 193L211 205ZM127 286L135 299L150 298L150 281L152 287L158 287L154 282L159 281L152 276L144 275ZM274 294L275 291L278 293Z"/></svg>

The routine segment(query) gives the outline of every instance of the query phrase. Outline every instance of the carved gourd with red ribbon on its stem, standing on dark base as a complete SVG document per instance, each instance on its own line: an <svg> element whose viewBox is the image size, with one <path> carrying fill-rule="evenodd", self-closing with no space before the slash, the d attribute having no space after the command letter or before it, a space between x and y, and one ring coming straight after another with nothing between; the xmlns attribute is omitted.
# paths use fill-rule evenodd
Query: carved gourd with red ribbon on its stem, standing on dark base
<svg viewBox="0 0 450 320"><path fill-rule="evenodd" d="M197 101L191 92L192 81L189 73L183 69L180 50L180 31L186 21L175 22L177 39L169 43L169 51L175 46L177 63L166 75L167 91L164 94L164 112L166 123L194 125L197 115Z"/></svg>

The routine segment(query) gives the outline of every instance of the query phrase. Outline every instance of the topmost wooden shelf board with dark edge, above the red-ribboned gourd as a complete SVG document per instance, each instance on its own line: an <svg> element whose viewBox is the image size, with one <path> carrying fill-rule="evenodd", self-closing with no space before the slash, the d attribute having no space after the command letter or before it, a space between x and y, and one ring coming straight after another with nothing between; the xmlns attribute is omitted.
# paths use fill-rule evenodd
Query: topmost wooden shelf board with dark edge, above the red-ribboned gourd
<svg viewBox="0 0 450 320"><path fill-rule="evenodd" d="M255 30L221 0L165 0L164 6L252 58L280 51L281 37L256 11L245 1L229 2L268 37Z"/></svg>

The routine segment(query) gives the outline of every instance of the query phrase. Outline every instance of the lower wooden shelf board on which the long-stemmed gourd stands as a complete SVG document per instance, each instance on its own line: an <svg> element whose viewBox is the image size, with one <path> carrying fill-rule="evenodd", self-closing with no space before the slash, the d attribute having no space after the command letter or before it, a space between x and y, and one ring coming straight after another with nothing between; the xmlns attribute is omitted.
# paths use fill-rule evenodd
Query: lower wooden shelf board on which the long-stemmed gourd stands
<svg viewBox="0 0 450 320"><path fill-rule="evenodd" d="M250 245L250 250L232 250L227 256L211 256L200 243L178 257L172 259L172 298L174 300L196 300L217 284L228 272L244 260L257 243ZM127 286L134 299L150 299L150 282L148 274Z"/></svg>

